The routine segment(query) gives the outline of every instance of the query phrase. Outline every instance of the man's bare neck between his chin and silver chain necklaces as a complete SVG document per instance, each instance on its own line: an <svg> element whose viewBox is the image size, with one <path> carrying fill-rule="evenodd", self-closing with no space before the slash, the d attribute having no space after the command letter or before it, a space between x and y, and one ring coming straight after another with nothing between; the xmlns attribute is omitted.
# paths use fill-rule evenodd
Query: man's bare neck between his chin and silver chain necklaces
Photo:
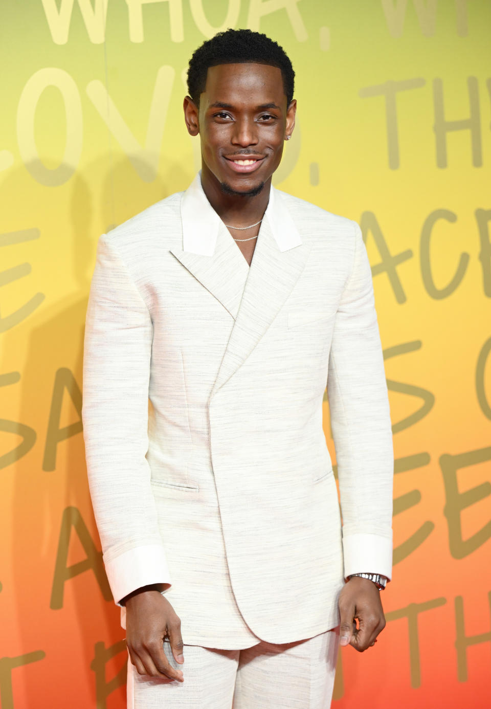
<svg viewBox="0 0 491 709"><path fill-rule="evenodd" d="M264 182L264 187L254 197L226 194L213 172L203 164L201 168L201 185L206 199L226 224L248 226L259 221L264 216L269 202L271 177Z"/></svg>

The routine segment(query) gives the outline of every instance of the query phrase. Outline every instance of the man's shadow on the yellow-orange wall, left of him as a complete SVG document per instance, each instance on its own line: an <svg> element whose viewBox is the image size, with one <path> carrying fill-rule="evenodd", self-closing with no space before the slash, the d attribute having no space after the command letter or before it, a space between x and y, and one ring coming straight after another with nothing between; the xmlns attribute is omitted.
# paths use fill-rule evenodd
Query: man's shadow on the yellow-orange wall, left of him
<svg viewBox="0 0 491 709"><path fill-rule="evenodd" d="M101 174L106 175L102 182ZM17 448L4 458L4 464L15 469L11 530L15 607L11 614L16 615L16 637L12 638L16 651L9 654L18 657L23 653L18 664L30 664L23 696L24 706L32 709L39 708L40 697L46 706L60 705L63 697L73 708L85 708L87 700L102 708L109 693L111 706L114 701L114 705L124 705L123 688L117 688L125 681L124 631L103 572L81 434L86 305L98 225L108 231L116 222L184 189L192 178L193 174L182 172L179 166L167 164L164 174L145 184L127 160L111 169L110 157L103 156L71 178L70 223L66 228L59 223L60 213L66 212L57 212L56 190L32 182L36 199L42 190L47 199L53 197L52 211L47 210L52 218L41 226L41 248L50 250L43 260L60 259L56 272L62 279L66 279L66 269L73 274L72 292L62 294L56 302L45 298L24 325L17 325L27 328L28 346L18 352L24 364L15 394L9 391L18 402L17 420L37 433L23 451L19 450L18 436L12 443L7 438L7 450ZM5 194L18 194L16 186L21 183L26 184L25 170L9 171L2 189ZM92 184L102 184L99 194L94 194ZM23 193L24 219L38 225L36 215L29 213L25 188L19 191ZM63 249L57 254L61 235L71 240L71 262L62 262ZM26 291L27 301L31 295L27 282ZM3 335L4 352L16 346L15 329L11 328L11 337L9 331ZM7 371L4 364L1 372ZM21 426L16 432L23 436ZM94 665L96 644L99 662ZM106 652L111 646L117 651L113 659L109 659L111 652ZM14 682L14 690L15 686ZM2 703L2 709L9 706Z"/></svg>

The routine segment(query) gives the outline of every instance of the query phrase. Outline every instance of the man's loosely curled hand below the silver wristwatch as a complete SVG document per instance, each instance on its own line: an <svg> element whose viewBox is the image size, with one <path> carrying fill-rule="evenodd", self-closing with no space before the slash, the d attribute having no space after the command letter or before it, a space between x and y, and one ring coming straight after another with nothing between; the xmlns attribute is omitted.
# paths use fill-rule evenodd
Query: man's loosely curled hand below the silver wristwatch
<svg viewBox="0 0 491 709"><path fill-rule="evenodd" d="M339 594L339 642L352 645L359 652L372 647L385 627L380 591L370 579L351 576ZM358 618L359 627L356 627Z"/></svg>

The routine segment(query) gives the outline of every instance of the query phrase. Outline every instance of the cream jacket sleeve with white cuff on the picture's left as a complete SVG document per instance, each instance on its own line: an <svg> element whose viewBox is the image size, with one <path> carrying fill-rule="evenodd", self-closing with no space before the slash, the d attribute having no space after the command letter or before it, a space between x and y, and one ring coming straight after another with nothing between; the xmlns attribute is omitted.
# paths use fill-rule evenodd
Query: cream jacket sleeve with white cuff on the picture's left
<svg viewBox="0 0 491 709"><path fill-rule="evenodd" d="M117 605L136 588L170 584L145 457L152 337L145 301L102 235L86 312L82 421L92 506Z"/></svg>

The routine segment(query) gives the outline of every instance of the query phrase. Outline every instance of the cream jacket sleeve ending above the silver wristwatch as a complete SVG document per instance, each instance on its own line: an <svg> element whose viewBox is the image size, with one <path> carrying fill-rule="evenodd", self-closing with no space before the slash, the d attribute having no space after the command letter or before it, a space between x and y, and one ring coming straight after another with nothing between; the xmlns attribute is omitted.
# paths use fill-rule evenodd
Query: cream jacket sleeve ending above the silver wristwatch
<svg viewBox="0 0 491 709"><path fill-rule="evenodd" d="M361 229L334 323L327 395L343 518L344 576L392 576L394 453L373 282Z"/></svg>

